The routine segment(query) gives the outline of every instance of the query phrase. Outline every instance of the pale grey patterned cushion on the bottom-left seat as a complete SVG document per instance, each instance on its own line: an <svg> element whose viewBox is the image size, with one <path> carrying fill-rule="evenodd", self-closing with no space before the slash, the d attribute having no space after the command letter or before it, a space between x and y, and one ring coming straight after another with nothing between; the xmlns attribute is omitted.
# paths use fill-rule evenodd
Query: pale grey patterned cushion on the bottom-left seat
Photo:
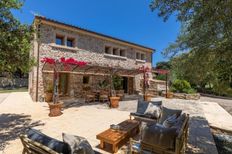
<svg viewBox="0 0 232 154"><path fill-rule="evenodd" d="M65 133L62 136L63 141L70 146L72 154L94 154L91 145L85 138Z"/></svg>

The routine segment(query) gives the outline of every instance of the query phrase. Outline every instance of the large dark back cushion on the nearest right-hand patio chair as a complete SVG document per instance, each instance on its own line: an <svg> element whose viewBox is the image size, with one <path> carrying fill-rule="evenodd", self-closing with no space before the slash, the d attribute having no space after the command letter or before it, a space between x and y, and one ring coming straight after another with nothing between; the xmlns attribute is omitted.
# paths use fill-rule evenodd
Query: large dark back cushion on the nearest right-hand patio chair
<svg viewBox="0 0 232 154"><path fill-rule="evenodd" d="M156 145L164 149L174 149L176 136L176 128L165 128L155 124L144 128L141 144Z"/></svg>

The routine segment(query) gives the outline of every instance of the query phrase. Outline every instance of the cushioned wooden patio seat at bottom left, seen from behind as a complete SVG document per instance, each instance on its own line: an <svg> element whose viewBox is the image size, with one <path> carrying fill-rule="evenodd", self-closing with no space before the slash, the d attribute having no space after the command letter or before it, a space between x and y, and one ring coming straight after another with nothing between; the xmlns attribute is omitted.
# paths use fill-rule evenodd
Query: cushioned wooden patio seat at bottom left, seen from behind
<svg viewBox="0 0 232 154"><path fill-rule="evenodd" d="M20 135L23 144L23 154L98 154L89 142L80 136L62 134L63 141L51 138L35 129L29 129Z"/></svg>

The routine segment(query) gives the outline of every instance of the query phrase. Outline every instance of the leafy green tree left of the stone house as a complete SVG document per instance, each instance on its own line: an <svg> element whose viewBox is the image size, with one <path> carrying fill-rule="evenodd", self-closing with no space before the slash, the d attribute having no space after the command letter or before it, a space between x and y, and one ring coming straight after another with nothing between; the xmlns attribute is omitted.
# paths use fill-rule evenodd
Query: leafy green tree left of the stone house
<svg viewBox="0 0 232 154"><path fill-rule="evenodd" d="M33 28L21 24L11 12L22 5L22 0L0 1L0 72L26 73L34 64L34 60L29 59Z"/></svg>

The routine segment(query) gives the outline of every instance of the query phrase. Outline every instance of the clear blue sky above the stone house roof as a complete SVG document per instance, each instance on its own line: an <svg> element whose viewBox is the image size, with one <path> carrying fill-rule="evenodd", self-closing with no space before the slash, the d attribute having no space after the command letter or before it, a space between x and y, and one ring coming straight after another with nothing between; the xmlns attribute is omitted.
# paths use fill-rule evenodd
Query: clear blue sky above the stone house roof
<svg viewBox="0 0 232 154"><path fill-rule="evenodd" d="M77 25L156 49L153 65L163 61L162 50L174 42L180 29L175 17L167 22L151 12L150 0L26 0L21 11L13 11L31 24L33 13Z"/></svg>

